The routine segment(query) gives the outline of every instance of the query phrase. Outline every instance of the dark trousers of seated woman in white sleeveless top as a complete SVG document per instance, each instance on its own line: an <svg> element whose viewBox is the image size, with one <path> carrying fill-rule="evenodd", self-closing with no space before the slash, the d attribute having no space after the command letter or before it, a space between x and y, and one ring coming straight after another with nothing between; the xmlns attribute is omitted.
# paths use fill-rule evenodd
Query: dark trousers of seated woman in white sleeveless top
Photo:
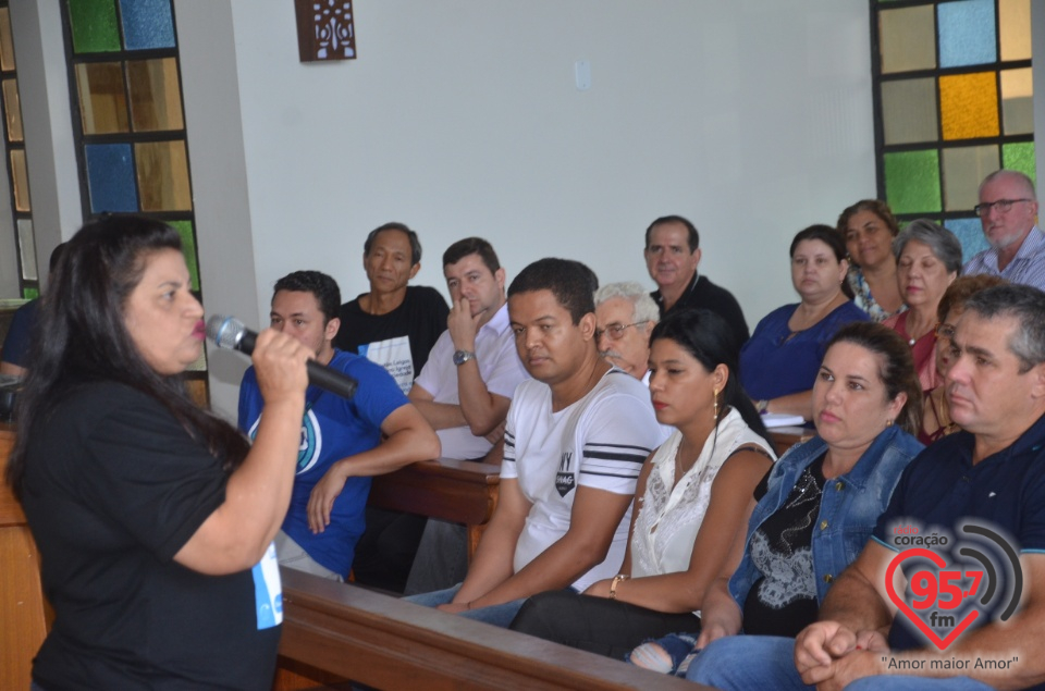
<svg viewBox="0 0 1045 691"><path fill-rule="evenodd" d="M623 659L651 638L700 631L700 618L692 613L666 614L618 600L556 590L527 600L508 628Z"/></svg>

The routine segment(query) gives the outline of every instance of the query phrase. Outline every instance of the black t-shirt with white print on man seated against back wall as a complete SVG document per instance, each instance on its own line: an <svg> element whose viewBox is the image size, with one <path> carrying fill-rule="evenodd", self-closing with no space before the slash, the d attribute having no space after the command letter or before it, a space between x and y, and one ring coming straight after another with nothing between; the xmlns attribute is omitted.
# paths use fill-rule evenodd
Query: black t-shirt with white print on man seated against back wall
<svg viewBox="0 0 1045 691"><path fill-rule="evenodd" d="M362 355L389 370L403 393L421 368L428 362L428 354L446 331L450 308L439 291L425 285L406 288L403 304L388 314L368 314L359 307L359 298L341 306L341 329L334 337L334 347L355 355ZM403 349L408 342L409 353ZM370 349L383 350L381 354ZM411 369L413 368L413 369Z"/></svg>

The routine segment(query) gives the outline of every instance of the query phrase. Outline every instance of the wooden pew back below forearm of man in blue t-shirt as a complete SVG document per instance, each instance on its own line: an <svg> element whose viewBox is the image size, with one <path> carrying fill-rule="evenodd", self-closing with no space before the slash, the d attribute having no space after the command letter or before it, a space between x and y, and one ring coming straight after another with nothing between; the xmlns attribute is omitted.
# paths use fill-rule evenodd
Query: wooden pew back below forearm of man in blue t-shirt
<svg viewBox="0 0 1045 691"><path fill-rule="evenodd" d="M376 477L368 503L465 523L470 559L497 505L500 482L500 466L448 458L423 460Z"/></svg>

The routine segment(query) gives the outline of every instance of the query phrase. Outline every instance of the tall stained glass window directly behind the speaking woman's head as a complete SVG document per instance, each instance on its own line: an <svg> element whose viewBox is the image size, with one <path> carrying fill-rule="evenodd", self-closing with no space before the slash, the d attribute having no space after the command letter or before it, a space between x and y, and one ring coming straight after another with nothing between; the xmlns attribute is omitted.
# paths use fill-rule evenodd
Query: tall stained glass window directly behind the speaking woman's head
<svg viewBox="0 0 1045 691"><path fill-rule="evenodd" d="M146 213L176 229L198 296L172 0L63 0L63 10L84 217ZM186 374L205 394L206 369L201 358Z"/></svg>

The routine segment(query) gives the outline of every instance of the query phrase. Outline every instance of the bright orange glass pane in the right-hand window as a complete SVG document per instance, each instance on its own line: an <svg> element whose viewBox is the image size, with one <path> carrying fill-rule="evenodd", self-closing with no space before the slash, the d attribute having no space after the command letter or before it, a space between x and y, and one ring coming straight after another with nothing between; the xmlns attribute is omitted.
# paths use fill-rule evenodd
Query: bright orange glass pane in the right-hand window
<svg viewBox="0 0 1045 691"><path fill-rule="evenodd" d="M994 72L939 77L939 111L944 139L996 137L997 78Z"/></svg>

